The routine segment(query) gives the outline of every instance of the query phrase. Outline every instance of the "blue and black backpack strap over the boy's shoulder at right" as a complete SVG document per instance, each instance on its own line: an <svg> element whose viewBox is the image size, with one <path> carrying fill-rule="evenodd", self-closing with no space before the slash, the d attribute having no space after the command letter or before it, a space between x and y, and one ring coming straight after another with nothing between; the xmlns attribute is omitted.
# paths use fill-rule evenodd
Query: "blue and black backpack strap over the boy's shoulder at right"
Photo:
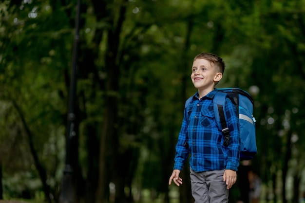
<svg viewBox="0 0 305 203"><path fill-rule="evenodd" d="M224 146L229 146L230 134L227 126L226 113L224 107L226 106L227 93L217 92L213 98L213 109L215 112L215 119L217 123L221 124L222 133L224 135Z"/></svg>

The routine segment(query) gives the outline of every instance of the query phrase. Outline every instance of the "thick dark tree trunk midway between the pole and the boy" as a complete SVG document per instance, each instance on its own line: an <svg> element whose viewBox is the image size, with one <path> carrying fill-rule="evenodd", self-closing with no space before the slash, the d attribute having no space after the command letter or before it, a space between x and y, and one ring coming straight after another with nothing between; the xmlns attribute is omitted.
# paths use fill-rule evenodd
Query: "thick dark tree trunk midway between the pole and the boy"
<svg viewBox="0 0 305 203"><path fill-rule="evenodd" d="M105 199L105 167L106 157L110 157L110 177L114 178L115 184L115 203L124 203L126 201L124 193L124 174L118 171L117 166L120 162L119 143L118 143L118 83L120 77L119 64L116 63L118 48L120 42L120 33L123 21L125 20L126 2L124 0L119 9L119 17L116 23L114 19L109 19L109 25L113 26L108 31L107 52L105 58L105 67L107 68L106 98L105 98L105 116L103 132L100 141L99 153L99 181L98 191L96 192L96 203L101 203ZM111 13L111 12L109 12ZM116 25L116 26L115 26Z"/></svg>

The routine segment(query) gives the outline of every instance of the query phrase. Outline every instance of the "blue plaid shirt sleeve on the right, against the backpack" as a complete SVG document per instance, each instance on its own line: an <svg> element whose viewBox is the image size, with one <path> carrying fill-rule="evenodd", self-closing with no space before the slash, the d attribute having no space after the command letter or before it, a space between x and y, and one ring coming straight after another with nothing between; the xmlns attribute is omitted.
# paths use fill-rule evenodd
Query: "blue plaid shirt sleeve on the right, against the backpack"
<svg viewBox="0 0 305 203"><path fill-rule="evenodd" d="M227 114L227 124L230 133L230 141L228 146L228 157L226 169L231 169L237 171L239 166L239 154L240 154L240 135L238 127L238 115L235 106L231 100L226 98L226 114Z"/></svg>

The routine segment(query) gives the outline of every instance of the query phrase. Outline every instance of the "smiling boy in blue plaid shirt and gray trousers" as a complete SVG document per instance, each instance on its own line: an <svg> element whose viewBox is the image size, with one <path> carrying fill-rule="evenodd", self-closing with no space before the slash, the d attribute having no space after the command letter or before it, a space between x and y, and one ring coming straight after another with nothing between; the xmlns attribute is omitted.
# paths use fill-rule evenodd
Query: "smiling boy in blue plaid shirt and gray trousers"
<svg viewBox="0 0 305 203"><path fill-rule="evenodd" d="M227 97L228 147L223 145L224 136L213 111L213 97L217 93L214 86L224 70L222 58L210 53L196 55L191 68L191 81L198 92L184 110L169 185L172 181L178 186L182 184L179 174L191 154L191 190L195 203L228 203L229 188L237 179L240 137L236 109Z"/></svg>

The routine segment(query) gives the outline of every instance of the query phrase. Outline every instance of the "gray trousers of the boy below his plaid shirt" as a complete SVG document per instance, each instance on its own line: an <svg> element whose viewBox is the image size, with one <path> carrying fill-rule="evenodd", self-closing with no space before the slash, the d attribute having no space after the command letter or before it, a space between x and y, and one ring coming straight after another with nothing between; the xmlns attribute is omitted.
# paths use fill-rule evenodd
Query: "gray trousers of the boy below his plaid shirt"
<svg viewBox="0 0 305 203"><path fill-rule="evenodd" d="M228 203L229 189L223 181L224 170L195 172L190 168L191 193L195 203Z"/></svg>

